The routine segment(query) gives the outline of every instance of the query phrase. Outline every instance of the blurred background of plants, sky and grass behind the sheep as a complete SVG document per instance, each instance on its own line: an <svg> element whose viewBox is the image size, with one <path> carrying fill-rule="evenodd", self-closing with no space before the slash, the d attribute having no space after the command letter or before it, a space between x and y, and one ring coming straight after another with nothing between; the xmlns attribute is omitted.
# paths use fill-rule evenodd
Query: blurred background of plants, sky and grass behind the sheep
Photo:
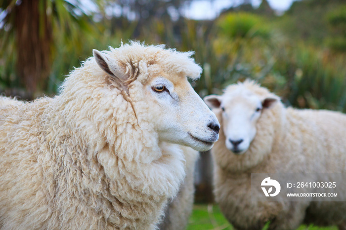
<svg viewBox="0 0 346 230"><path fill-rule="evenodd" d="M1 0L0 93L52 96L92 49L129 39L194 50L202 98L252 78L287 106L346 112L346 0ZM191 230L232 229L212 170L201 153Z"/></svg>

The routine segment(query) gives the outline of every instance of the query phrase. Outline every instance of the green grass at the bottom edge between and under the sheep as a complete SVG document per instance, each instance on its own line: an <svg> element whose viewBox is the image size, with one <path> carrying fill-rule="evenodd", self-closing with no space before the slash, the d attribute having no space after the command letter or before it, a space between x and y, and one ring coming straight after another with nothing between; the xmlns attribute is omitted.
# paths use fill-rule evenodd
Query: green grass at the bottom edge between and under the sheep
<svg viewBox="0 0 346 230"><path fill-rule="evenodd" d="M263 230L265 230L264 228ZM195 204L189 219L187 230L234 230L223 217L215 204ZM338 230L336 227L319 228L315 226L299 227L298 230Z"/></svg>

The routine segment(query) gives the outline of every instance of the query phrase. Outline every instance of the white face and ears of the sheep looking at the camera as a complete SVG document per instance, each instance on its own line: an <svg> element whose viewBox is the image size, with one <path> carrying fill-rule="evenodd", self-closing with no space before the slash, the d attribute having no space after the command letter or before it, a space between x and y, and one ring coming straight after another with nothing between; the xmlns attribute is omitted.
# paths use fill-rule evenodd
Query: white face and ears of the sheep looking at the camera
<svg viewBox="0 0 346 230"><path fill-rule="evenodd" d="M262 110L277 101L276 98L261 98L248 90L222 96L210 95L204 100L210 107L222 111L225 146L235 154L243 154L249 149Z"/></svg>

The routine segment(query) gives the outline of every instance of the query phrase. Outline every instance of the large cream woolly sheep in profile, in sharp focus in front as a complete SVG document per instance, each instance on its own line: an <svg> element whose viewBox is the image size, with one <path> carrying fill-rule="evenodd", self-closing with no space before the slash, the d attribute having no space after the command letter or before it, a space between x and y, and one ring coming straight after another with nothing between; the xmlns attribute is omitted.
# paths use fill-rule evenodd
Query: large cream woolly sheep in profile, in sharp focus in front
<svg viewBox="0 0 346 230"><path fill-rule="evenodd" d="M57 96L1 107L1 228L157 229L185 176L181 145L218 139L192 54L93 50Z"/></svg>

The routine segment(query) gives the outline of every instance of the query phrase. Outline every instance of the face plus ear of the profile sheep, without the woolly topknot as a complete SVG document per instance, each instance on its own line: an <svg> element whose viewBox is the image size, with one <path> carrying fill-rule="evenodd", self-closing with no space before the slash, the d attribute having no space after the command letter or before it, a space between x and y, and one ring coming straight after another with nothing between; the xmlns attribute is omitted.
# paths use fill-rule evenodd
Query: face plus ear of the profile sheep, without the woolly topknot
<svg viewBox="0 0 346 230"><path fill-rule="evenodd" d="M147 105L147 116L160 141L185 145L197 151L207 151L213 147L218 140L220 125L186 76L181 73L168 74L160 63L147 65L139 61L135 64L138 74L131 77L128 74L135 71L129 71L129 65L119 64L97 50L93 53L98 66L113 76L125 94L131 98L132 90L143 95L135 100Z"/></svg>

